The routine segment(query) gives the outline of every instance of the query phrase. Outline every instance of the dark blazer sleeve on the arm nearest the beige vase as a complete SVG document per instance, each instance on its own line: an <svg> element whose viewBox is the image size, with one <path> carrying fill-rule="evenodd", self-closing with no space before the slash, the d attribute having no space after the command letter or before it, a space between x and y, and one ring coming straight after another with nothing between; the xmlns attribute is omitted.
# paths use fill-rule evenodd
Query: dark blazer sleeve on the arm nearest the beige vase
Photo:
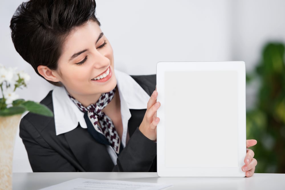
<svg viewBox="0 0 285 190"><path fill-rule="evenodd" d="M70 162L46 143L36 128L25 118L20 122L20 137L26 147L34 172L76 171Z"/></svg>

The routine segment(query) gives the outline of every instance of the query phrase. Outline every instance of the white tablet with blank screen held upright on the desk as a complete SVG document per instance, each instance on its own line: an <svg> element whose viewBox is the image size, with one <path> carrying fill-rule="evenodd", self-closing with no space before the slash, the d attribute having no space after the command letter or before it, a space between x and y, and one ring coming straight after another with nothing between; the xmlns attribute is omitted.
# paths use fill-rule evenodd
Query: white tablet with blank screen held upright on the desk
<svg viewBox="0 0 285 190"><path fill-rule="evenodd" d="M160 177L245 177L245 62L158 62Z"/></svg>

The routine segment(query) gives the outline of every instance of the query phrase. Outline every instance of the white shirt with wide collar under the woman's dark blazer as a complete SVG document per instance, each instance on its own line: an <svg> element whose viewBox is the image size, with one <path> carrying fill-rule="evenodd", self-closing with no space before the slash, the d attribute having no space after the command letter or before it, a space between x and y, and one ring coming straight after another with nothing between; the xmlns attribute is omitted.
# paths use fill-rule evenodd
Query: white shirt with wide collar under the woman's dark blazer
<svg viewBox="0 0 285 190"><path fill-rule="evenodd" d="M121 143L123 147L125 147L128 122L131 118L131 112L129 109L146 109L150 96L130 75L115 70L115 76L120 96L123 123ZM87 128L83 117L84 113L72 102L64 87L54 88L52 91L52 101L56 135L74 130L78 126L78 122L82 128ZM111 146L106 145L106 148L113 163L116 165L117 154Z"/></svg>

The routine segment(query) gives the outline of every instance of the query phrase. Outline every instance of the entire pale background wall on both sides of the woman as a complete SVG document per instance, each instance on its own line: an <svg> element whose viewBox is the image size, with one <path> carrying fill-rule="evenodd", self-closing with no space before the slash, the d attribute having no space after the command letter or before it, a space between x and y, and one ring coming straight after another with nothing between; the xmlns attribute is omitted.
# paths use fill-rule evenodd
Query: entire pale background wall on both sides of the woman
<svg viewBox="0 0 285 190"><path fill-rule="evenodd" d="M0 3L0 63L28 72L32 78L28 88L18 93L24 99L40 101L52 85L17 54L10 37L9 22L21 1ZM282 0L96 3L101 28L113 46L115 68L129 74L153 74L159 61L245 60L250 68L268 36L284 40ZM19 134L13 163L14 172L31 171Z"/></svg>

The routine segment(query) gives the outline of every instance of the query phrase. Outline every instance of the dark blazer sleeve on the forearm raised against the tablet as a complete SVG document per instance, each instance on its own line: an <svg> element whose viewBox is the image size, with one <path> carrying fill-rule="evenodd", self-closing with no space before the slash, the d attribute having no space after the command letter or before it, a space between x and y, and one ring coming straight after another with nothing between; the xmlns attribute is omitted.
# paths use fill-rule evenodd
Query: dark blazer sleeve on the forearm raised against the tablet
<svg viewBox="0 0 285 190"><path fill-rule="evenodd" d="M155 158L156 142L148 139L137 128L118 156L113 171L148 172Z"/></svg>

